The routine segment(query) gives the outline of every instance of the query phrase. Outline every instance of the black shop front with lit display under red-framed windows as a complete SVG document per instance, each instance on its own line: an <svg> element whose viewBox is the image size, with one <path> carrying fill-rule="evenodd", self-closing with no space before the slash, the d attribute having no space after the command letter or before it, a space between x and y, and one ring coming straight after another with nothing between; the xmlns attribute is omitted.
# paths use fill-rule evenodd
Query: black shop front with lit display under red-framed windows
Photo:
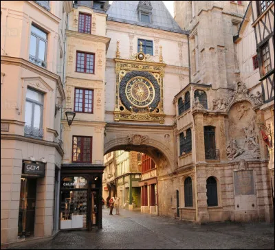
<svg viewBox="0 0 275 250"><path fill-rule="evenodd" d="M102 227L103 168L97 172L61 168L61 230Z"/></svg>

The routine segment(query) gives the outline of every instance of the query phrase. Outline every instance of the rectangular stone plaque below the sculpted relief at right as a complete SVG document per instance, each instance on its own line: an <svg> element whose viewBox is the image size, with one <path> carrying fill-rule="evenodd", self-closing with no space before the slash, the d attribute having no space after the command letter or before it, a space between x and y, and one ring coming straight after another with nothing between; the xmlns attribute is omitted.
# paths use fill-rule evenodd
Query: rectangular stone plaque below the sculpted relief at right
<svg viewBox="0 0 275 250"><path fill-rule="evenodd" d="M255 194L253 171L234 171L234 187L235 195Z"/></svg>

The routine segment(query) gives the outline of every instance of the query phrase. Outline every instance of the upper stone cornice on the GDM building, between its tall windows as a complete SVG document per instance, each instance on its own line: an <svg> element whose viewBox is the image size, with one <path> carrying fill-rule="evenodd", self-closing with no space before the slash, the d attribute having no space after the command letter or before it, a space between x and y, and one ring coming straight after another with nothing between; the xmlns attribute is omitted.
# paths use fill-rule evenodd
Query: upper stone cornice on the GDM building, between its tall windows
<svg viewBox="0 0 275 250"><path fill-rule="evenodd" d="M33 71L34 73L38 73L39 75L44 76L45 78L54 80L58 87L59 93L61 93L63 100L65 100L65 92L63 89L61 78L60 76L56 75L56 73L52 73L47 69L39 67L38 65L34 65L32 62L29 62L28 60L25 60L23 58L17 58L12 56L1 56L1 64L23 67L25 69Z"/></svg>

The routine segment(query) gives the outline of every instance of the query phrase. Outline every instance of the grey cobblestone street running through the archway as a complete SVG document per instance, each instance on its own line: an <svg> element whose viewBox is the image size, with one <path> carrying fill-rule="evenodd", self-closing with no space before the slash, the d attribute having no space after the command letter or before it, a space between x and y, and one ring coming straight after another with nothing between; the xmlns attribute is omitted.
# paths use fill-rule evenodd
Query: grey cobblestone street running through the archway
<svg viewBox="0 0 275 250"><path fill-rule="evenodd" d="M103 209L103 229L62 231L13 249L274 249L274 223L194 225L125 209L113 214Z"/></svg>

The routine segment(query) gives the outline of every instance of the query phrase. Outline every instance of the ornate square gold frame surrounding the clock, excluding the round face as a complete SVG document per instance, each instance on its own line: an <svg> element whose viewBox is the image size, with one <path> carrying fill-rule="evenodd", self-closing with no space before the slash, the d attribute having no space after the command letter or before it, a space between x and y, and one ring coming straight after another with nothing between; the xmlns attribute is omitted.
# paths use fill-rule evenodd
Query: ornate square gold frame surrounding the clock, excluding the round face
<svg viewBox="0 0 275 250"><path fill-rule="evenodd" d="M142 60L138 59L138 55L143 54L144 57ZM153 62L149 60L150 56L147 54L145 55L142 51L138 52L137 54L133 54L131 59L122 59L119 58L120 53L117 51L117 58L115 60L115 73L116 73L116 80L115 80L115 110L114 113L114 120L118 122L120 120L127 120L127 121L142 121L142 122L159 122L160 124L164 124L164 109L163 109L163 80L164 80L164 67L166 66L165 63L162 62ZM160 59L160 58L159 58ZM162 61L162 60L160 60ZM120 81L126 75L126 73L130 71L146 71L151 73L157 83L159 84L160 88L160 101L157 105L157 109L154 111L149 111L148 113L135 113L126 109L126 107L122 104L120 100Z"/></svg>

